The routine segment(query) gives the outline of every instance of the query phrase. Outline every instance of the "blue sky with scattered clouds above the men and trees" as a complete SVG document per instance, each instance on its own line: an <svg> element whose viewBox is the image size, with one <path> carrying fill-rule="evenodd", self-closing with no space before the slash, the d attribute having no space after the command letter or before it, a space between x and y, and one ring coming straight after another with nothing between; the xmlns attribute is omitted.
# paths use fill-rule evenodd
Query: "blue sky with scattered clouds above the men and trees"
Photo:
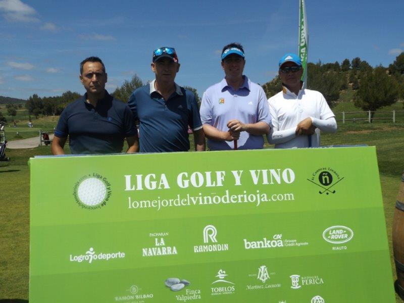
<svg viewBox="0 0 404 303"><path fill-rule="evenodd" d="M306 0L309 62L360 57L388 66L404 51L403 0ZM137 74L151 80L151 54L176 48L176 82L201 95L223 75L220 51L244 46L244 73L265 83L297 52L298 0L0 0L0 95L82 93L79 62L100 57L112 92ZM310 72L310 71L309 71Z"/></svg>

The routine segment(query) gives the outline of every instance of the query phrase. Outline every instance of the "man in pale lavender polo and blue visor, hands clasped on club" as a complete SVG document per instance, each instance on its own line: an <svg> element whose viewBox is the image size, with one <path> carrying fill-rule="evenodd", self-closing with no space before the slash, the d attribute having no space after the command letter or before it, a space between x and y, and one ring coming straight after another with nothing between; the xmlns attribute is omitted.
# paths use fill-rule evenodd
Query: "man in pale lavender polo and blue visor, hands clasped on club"
<svg viewBox="0 0 404 303"><path fill-rule="evenodd" d="M271 125L262 87L243 75L244 50L239 43L223 47L225 78L209 87L200 105L200 118L211 150L263 148Z"/></svg>

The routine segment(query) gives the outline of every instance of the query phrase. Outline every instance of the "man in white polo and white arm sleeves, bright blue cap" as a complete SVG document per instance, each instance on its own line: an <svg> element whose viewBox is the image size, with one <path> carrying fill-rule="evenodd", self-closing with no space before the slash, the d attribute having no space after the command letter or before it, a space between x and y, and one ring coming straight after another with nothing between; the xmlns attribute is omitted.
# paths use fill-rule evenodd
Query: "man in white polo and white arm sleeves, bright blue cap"
<svg viewBox="0 0 404 303"><path fill-rule="evenodd" d="M337 123L321 92L302 89L300 58L286 54L279 61L282 91L268 99L272 129L268 142L275 148L317 147L320 130L336 132Z"/></svg>

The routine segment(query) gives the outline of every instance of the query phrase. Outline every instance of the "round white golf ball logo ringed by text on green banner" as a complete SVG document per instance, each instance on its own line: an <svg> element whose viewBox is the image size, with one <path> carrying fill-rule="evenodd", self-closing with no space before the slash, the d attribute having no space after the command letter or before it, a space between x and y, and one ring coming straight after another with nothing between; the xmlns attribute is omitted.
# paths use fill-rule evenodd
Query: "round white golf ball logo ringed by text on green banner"
<svg viewBox="0 0 404 303"><path fill-rule="evenodd" d="M111 183L98 173L82 176L73 186L74 200L82 209L95 210L106 206L111 193Z"/></svg>

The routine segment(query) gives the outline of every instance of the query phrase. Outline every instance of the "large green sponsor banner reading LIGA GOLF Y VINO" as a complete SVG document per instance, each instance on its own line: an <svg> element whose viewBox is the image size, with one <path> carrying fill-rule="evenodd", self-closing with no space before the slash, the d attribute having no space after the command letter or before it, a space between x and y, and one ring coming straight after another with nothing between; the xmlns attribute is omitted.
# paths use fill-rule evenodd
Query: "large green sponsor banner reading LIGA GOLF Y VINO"
<svg viewBox="0 0 404 303"><path fill-rule="evenodd" d="M375 147L30 168L30 303L395 302Z"/></svg>

